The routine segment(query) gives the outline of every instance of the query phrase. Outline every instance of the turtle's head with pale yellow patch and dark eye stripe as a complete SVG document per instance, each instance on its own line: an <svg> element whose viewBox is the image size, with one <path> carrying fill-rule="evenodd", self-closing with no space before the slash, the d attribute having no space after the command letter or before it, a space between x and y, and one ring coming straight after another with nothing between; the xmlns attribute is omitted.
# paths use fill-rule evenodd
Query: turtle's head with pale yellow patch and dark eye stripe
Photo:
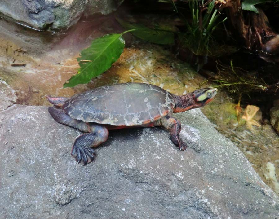
<svg viewBox="0 0 279 219"><path fill-rule="evenodd" d="M190 93L190 95L192 95L194 102L198 106L204 106L213 100L213 98L217 94L217 90L218 90L217 88L207 87L207 88L195 90L192 93Z"/></svg>

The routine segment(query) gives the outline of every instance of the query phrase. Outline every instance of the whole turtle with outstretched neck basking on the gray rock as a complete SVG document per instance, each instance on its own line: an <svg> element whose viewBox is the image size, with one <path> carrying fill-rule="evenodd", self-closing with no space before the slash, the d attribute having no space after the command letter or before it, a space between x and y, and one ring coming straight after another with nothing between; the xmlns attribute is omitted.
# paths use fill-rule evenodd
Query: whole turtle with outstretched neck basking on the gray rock
<svg viewBox="0 0 279 219"><path fill-rule="evenodd" d="M122 83L70 98L47 99L54 105L48 111L56 122L85 132L75 140L71 154L78 163L87 164L94 160L94 148L104 143L108 131L114 129L161 126L170 132L170 140L186 151L187 143L179 137L181 123L172 114L202 107L216 93L217 88L208 87L178 96L152 84Z"/></svg>

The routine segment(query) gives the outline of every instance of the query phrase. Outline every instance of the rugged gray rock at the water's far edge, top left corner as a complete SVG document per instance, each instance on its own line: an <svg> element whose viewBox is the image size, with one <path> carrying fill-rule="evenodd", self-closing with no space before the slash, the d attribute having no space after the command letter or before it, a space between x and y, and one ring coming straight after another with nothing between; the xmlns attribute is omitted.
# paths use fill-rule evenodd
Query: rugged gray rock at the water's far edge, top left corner
<svg viewBox="0 0 279 219"><path fill-rule="evenodd" d="M123 0L1 0L0 12L37 28L68 28L83 13L108 14Z"/></svg>

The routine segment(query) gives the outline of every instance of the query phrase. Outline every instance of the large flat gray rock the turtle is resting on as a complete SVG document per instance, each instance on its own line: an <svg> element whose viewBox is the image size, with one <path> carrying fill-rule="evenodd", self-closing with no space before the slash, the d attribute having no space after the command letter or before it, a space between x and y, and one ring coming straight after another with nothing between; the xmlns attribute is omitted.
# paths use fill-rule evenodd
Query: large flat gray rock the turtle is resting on
<svg viewBox="0 0 279 219"><path fill-rule="evenodd" d="M179 151L159 128L111 131L94 162L70 155L80 134L47 107L0 113L0 218L278 218L277 195L199 109L175 114ZM199 129L197 131L196 129Z"/></svg>

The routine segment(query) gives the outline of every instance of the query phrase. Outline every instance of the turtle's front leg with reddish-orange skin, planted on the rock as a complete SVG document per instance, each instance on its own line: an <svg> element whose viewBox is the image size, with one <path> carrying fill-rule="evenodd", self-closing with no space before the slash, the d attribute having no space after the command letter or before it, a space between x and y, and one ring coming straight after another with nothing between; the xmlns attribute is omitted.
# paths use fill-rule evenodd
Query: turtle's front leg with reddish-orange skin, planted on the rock
<svg viewBox="0 0 279 219"><path fill-rule="evenodd" d="M181 123L179 120L174 117L165 116L160 119L159 125L161 125L165 130L170 131L170 140L177 145L180 150L187 150L187 143L179 137L181 130Z"/></svg>

